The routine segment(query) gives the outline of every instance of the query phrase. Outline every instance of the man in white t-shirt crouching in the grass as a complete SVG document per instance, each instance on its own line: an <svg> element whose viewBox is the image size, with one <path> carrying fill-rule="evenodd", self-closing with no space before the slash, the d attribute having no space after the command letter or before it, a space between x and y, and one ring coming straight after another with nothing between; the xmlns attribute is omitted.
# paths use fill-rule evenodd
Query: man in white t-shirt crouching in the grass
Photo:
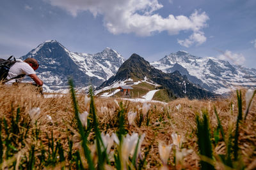
<svg viewBox="0 0 256 170"><path fill-rule="evenodd" d="M37 87L38 92L42 94L43 88L42 85L44 82L36 76L35 70L38 69L39 64L36 59L33 58L28 58L24 61L22 60L17 60L15 64L13 64L10 67L10 70L7 75L7 81L5 84L13 84L17 85L21 83L22 79L24 76L28 75L29 77L32 78L32 80L35 81L35 83L30 83L31 85L35 85Z"/></svg>

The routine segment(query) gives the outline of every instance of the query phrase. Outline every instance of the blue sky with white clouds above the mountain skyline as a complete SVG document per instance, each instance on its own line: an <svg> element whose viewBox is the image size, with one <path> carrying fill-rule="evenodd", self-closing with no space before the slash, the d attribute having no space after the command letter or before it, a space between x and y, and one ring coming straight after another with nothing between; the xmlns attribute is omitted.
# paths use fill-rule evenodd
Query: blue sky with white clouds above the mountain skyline
<svg viewBox="0 0 256 170"><path fill-rule="evenodd" d="M1 0L0 57L56 39L149 62L178 50L256 68L255 0Z"/></svg>

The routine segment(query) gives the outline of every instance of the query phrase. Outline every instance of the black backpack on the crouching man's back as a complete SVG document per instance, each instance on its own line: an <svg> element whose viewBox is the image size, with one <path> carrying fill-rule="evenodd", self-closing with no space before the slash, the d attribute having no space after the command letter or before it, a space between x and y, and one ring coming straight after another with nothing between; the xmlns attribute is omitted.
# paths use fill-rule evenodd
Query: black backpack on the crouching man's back
<svg viewBox="0 0 256 170"><path fill-rule="evenodd" d="M19 76L15 76L13 78L10 79L6 79L8 72L10 70L10 67L15 64L16 59L15 57L13 57L13 55L11 57L9 57L7 60L5 59L0 59L0 81L2 81L2 83L6 83L7 81L13 80L15 78L22 78L24 76L24 74L21 74Z"/></svg>

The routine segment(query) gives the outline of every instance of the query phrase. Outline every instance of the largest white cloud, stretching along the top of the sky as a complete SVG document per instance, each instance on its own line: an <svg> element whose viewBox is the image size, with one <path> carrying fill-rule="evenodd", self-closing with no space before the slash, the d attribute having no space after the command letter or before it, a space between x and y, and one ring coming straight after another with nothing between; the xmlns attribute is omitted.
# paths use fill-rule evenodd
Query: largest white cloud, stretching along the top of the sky
<svg viewBox="0 0 256 170"><path fill-rule="evenodd" d="M90 11L95 17L102 15L104 25L112 34L135 33L151 36L156 32L168 31L170 35L180 31L192 31L198 44L205 41L202 29L209 19L205 12L195 10L191 16L169 15L161 17L156 11L163 8L157 0L44 0L58 6L76 17L79 12ZM200 37L197 37L200 36ZM205 39L205 40L204 40Z"/></svg>

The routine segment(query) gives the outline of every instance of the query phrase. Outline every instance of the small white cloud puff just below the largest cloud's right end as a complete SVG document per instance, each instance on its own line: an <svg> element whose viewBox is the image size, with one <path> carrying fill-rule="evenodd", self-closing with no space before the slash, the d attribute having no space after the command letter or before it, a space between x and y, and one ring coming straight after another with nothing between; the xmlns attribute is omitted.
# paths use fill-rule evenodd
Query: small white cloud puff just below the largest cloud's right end
<svg viewBox="0 0 256 170"><path fill-rule="evenodd" d="M186 46L187 48L193 44L201 45L206 41L206 37L204 36L204 32L194 32L189 38L180 40L178 39L178 43L182 46Z"/></svg>

